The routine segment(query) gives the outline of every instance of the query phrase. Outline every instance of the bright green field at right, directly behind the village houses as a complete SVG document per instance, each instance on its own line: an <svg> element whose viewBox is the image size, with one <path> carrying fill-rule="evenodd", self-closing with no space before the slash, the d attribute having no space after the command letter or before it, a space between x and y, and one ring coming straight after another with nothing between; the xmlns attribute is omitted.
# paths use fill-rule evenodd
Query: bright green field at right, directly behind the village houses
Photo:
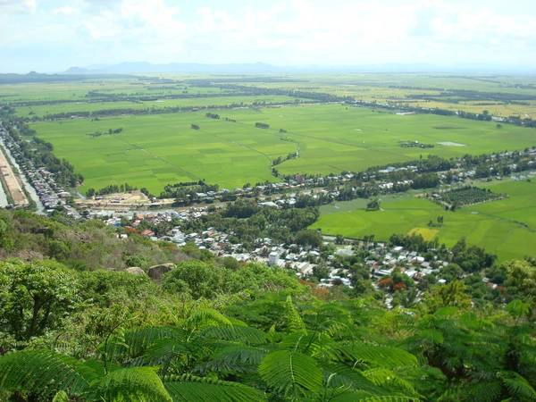
<svg viewBox="0 0 536 402"><path fill-rule="evenodd" d="M466 206L456 212L412 194L384 197L381 211L364 211L364 200L356 200L321 208L321 217L312 228L324 234L361 238L375 235L386 240L393 233L423 230L428 222L444 217L437 232L441 242L452 246L465 237L470 244L485 247L500 260L536 256L536 181L505 181L487 187L508 197L480 205Z"/></svg>

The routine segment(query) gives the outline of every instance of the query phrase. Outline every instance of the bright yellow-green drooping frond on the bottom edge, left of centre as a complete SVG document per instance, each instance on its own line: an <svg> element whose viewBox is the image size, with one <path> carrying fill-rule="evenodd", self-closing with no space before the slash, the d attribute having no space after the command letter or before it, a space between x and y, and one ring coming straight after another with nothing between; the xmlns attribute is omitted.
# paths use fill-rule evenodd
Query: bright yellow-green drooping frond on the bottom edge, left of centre
<svg viewBox="0 0 536 402"><path fill-rule="evenodd" d="M91 384L91 394L97 400L117 402L172 402L156 372L156 367L114 370Z"/></svg>

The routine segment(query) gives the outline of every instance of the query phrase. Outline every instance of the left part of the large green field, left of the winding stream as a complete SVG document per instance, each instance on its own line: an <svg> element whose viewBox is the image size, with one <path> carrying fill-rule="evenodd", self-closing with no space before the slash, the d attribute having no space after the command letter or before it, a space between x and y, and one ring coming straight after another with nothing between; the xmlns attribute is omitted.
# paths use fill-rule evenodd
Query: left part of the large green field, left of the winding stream
<svg viewBox="0 0 536 402"><path fill-rule="evenodd" d="M192 130L191 123L201 130ZM76 119L33 127L54 144L56 155L85 176L82 189L128 182L159 194L165 184L200 179L241 187L247 181L272 180L271 160L296 148L270 131L215 121L204 113ZM119 135L88 136L119 127Z"/></svg>

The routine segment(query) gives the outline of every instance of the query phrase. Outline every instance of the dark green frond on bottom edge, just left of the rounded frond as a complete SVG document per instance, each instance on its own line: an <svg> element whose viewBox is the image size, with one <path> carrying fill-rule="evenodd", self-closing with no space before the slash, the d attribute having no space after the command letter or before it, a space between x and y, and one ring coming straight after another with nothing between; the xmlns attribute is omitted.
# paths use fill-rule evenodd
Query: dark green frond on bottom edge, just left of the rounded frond
<svg viewBox="0 0 536 402"><path fill-rule="evenodd" d="M174 402L251 402L266 400L258 389L238 382L218 381L193 375L172 376L164 382Z"/></svg>

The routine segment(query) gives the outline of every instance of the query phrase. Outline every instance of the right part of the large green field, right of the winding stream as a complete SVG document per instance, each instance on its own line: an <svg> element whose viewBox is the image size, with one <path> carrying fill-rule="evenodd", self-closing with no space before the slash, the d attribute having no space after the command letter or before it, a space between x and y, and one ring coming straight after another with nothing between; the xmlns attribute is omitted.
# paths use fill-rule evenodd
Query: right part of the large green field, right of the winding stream
<svg viewBox="0 0 536 402"><path fill-rule="evenodd" d="M247 123L262 120L289 131L289 138L300 145L301 157L283 163L279 167L283 173L361 171L421 155L451 157L536 145L536 130L514 126L497 129L491 122L423 114L400 116L342 105L264 109L236 118ZM402 148L398 146L400 140L418 140L436 147ZM445 141L465 147L438 144Z"/></svg>

